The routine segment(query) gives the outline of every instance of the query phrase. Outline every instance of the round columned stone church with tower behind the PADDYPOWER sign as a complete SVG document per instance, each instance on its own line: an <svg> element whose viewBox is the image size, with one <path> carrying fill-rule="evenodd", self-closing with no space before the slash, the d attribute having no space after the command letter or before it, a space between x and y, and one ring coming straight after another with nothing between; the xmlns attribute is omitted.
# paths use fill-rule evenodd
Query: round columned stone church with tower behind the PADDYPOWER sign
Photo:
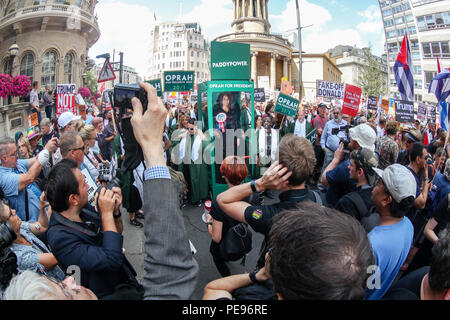
<svg viewBox="0 0 450 320"><path fill-rule="evenodd" d="M287 39L270 33L268 2L233 0L234 33L220 36L214 41L250 44L251 78L255 81L255 87L279 90L281 78L292 79L293 47Z"/></svg>

